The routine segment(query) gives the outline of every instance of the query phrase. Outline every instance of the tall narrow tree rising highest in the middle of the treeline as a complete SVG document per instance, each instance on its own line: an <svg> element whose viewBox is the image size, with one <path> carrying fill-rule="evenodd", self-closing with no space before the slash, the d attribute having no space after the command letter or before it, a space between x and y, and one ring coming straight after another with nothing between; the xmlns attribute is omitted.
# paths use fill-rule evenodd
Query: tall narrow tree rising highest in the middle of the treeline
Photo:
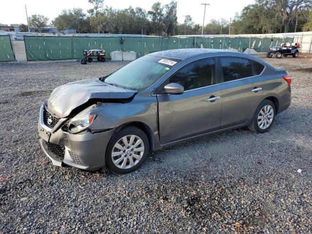
<svg viewBox="0 0 312 234"><path fill-rule="evenodd" d="M171 1L165 5L165 14L163 17L163 27L166 36L174 35L177 25L176 1Z"/></svg>

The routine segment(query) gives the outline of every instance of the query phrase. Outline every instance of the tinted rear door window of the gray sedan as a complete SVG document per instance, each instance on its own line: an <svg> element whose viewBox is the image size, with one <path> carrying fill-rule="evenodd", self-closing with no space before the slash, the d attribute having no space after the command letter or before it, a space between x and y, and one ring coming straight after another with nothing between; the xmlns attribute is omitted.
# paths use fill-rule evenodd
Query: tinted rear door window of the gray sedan
<svg viewBox="0 0 312 234"><path fill-rule="evenodd" d="M231 57L220 60L224 82L254 76L253 66L248 59Z"/></svg>

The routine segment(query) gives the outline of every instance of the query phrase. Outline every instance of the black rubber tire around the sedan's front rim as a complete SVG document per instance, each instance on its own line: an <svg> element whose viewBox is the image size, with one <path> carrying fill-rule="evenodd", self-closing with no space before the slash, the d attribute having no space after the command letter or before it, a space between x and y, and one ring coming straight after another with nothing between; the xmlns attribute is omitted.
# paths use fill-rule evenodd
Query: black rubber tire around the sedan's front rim
<svg viewBox="0 0 312 234"><path fill-rule="evenodd" d="M113 148L115 146L115 144L117 142L119 142L119 140L122 138L122 137L125 137L125 136L129 136L129 135L135 135L139 138L141 138L141 140L143 141L143 144L144 144L144 153L143 153L143 156L141 157L141 159L137 162L137 164L135 164L133 167L130 167L130 168L127 168L127 169L121 169L119 167L117 167L114 162L113 162L113 158L112 158L112 151L113 151ZM150 143L149 143L149 140L148 140L148 137L146 136L146 134L139 128L137 127L134 127L134 126L129 126L129 127L125 127L123 129L121 129L110 141L109 143L109 146L108 146L108 149L107 149L107 154L106 154L106 166L107 168L111 171L111 172L114 172L114 173L117 173L117 174L127 174L127 173L130 173L130 172L134 172L136 171L143 163L144 161L147 159L148 157L148 154L149 154L149 150L150 150ZM121 152L121 151L120 151ZM130 154L131 155L131 154ZM117 156L117 159L118 158L121 158L122 155L119 157ZM128 157L128 156L124 156L124 157ZM130 156L129 156L130 157ZM126 163L130 163L130 161L128 161L129 159L127 159L127 162ZM136 159L135 159L136 160ZM122 160L120 162L120 164L122 164L124 160ZM127 166L129 166L130 164L127 164Z"/></svg>

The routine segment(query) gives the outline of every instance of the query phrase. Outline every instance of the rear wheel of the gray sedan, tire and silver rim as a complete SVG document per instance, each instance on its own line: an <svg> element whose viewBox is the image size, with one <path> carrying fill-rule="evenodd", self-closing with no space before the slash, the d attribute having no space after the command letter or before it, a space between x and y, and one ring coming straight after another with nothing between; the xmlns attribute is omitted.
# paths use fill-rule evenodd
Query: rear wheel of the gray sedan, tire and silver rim
<svg viewBox="0 0 312 234"><path fill-rule="evenodd" d="M272 101L267 99L261 101L254 113L252 123L248 126L249 130L255 133L267 132L273 125L275 114L276 109Z"/></svg>

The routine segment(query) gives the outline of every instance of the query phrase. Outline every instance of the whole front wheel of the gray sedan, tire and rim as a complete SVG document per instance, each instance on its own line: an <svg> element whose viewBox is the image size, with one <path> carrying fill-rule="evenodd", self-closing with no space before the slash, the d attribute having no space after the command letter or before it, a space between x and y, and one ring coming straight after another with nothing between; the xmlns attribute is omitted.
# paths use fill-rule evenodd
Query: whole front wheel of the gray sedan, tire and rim
<svg viewBox="0 0 312 234"><path fill-rule="evenodd" d="M110 171L117 174L133 172L146 160L149 149L148 137L141 129L134 126L125 127L111 140L106 165Z"/></svg>

